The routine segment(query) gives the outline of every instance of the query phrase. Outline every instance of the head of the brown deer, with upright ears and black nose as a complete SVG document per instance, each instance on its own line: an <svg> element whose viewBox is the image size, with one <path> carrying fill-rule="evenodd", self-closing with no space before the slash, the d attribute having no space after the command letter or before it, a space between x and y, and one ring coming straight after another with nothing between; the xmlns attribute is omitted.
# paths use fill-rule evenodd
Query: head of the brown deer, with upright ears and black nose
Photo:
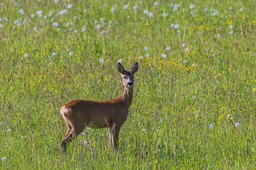
<svg viewBox="0 0 256 170"><path fill-rule="evenodd" d="M131 70L125 71L122 64L117 64L117 70L121 73L122 79L123 79L123 86L125 88L133 88L134 84L134 73L138 70L138 63L136 62L132 67Z"/></svg>

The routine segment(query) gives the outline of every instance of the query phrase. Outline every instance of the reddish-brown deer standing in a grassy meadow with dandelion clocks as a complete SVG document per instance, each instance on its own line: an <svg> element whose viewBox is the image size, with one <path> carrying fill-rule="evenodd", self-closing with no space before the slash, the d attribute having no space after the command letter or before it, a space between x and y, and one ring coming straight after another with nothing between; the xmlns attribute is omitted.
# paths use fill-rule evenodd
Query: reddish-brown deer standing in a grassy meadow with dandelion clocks
<svg viewBox="0 0 256 170"><path fill-rule="evenodd" d="M82 133L85 127L108 128L110 145L117 152L119 131L127 119L131 106L134 73L137 72L138 67L138 63L135 63L131 70L125 71L120 63L117 64L124 86L124 92L119 98L107 101L73 100L61 107L61 115L67 124L67 133L60 143L62 153L67 149L67 143Z"/></svg>

